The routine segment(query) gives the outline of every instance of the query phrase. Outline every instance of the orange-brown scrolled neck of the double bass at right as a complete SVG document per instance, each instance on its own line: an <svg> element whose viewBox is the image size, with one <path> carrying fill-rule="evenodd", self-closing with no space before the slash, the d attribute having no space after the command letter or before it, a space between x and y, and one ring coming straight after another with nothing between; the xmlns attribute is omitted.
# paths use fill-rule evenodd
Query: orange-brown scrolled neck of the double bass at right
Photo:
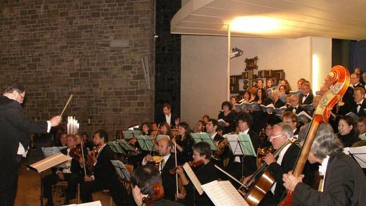
<svg viewBox="0 0 366 206"><path fill-rule="evenodd" d="M310 153L310 148L313 144L315 134L317 132L317 127L320 123L328 122L329 115L332 112L332 108L336 103L340 103L343 95L348 89L348 84L350 82L350 74L346 67L334 66L329 72L327 79L324 80L325 86L329 87L329 90L323 95L322 100L315 109L313 120L310 123L310 127L306 134L305 142L301 148L301 152L296 160L296 165L294 167L294 176L301 176L303 174L303 169L306 160L308 160L308 155ZM279 203L281 206L294 205L291 202L292 192L286 191L286 197L282 202Z"/></svg>

